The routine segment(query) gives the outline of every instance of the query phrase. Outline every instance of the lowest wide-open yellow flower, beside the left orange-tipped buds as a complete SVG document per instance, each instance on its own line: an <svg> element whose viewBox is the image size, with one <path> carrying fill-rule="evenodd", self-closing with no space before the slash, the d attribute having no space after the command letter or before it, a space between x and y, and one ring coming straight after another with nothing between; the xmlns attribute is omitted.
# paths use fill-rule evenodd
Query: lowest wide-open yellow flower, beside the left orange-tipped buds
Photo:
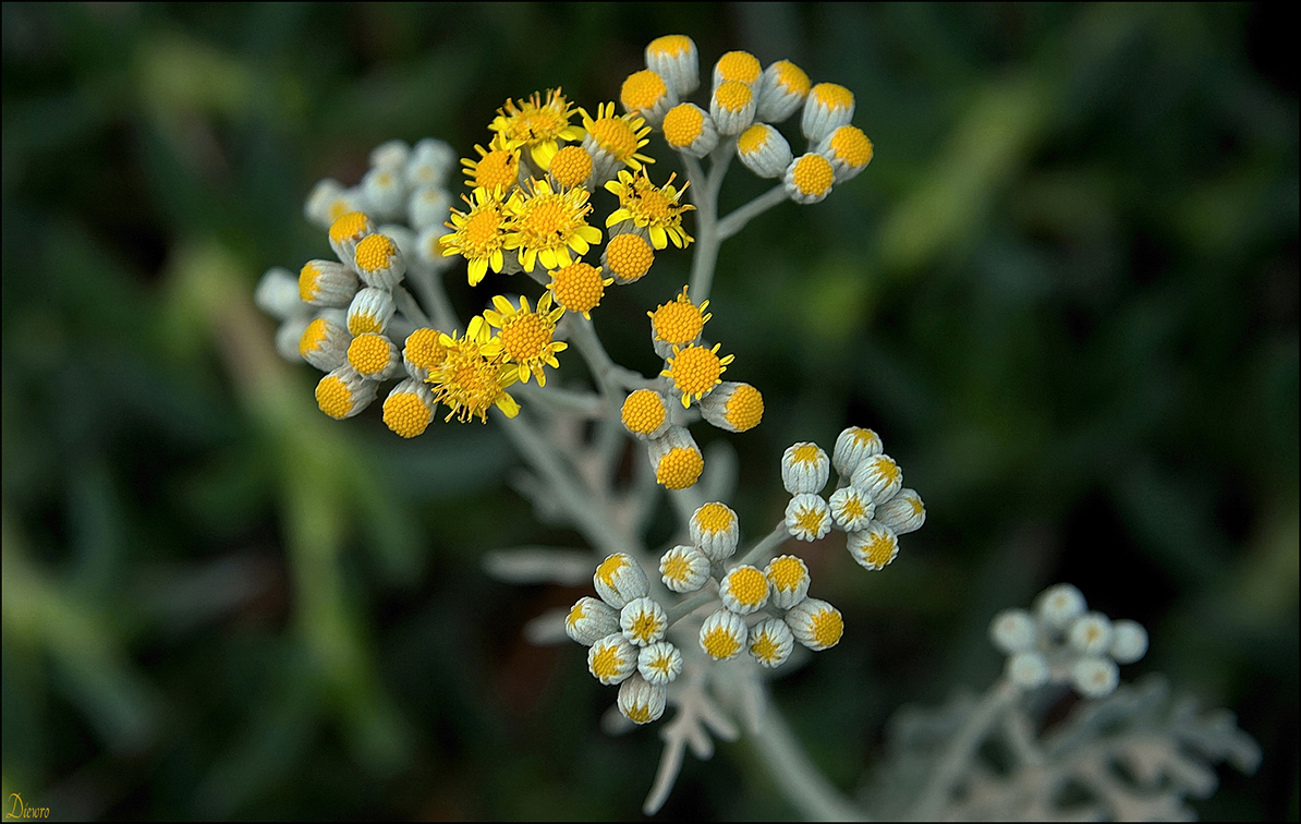
<svg viewBox="0 0 1301 824"><path fill-rule="evenodd" d="M433 397L449 411L445 420L479 418L488 422L488 409L496 406L507 418L519 414L519 404L510 397L506 387L519 378L519 367L503 363L501 338L492 337L488 323L470 319L464 337L442 335L438 338L446 354L442 363L429 371L428 383Z"/></svg>

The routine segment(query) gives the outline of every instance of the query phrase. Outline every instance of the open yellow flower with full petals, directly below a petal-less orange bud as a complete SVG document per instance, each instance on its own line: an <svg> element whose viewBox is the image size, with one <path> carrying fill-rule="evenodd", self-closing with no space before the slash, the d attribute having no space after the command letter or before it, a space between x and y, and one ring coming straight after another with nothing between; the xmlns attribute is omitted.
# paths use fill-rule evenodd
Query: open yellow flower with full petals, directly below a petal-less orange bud
<svg viewBox="0 0 1301 824"><path fill-rule="evenodd" d="M601 230L587 224L592 211L588 197L587 189L554 191L545 180L530 180L527 190L510 197L505 247L519 250L526 272L532 272L537 260L548 269L569 266L574 262L570 250L582 258L592 243L601 242Z"/></svg>

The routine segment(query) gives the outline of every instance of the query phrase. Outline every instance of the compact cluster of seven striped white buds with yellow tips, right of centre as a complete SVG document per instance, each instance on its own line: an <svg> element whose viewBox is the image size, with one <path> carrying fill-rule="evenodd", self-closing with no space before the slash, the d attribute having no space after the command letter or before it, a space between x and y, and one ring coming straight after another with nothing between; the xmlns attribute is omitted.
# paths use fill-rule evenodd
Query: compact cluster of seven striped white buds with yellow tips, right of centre
<svg viewBox="0 0 1301 824"><path fill-rule="evenodd" d="M831 467L839 478L824 499ZM782 456L782 483L791 493L786 529L799 540L817 540L833 527L847 532L846 545L860 566L883 569L899 555L899 535L921 529L926 508L915 489L904 488L903 470L882 452L872 430L850 427L835 439L835 450L813 443L792 444Z"/></svg>

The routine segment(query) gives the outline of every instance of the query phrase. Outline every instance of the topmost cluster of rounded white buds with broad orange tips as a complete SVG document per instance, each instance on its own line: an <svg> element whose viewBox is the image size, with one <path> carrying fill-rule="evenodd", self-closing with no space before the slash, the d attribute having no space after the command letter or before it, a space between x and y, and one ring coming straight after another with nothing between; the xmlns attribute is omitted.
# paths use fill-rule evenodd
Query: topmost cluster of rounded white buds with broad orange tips
<svg viewBox="0 0 1301 824"><path fill-rule="evenodd" d="M727 52L714 64L708 107L686 100L700 87L700 55L691 38L652 40L645 65L623 82L623 107L661 129L669 147L683 155L704 158L734 146L745 168L781 178L796 203L817 203L872 161L872 141L850 125L853 92L837 83L812 85L790 60L764 68L749 52ZM771 124L800 111L808 144L796 158Z"/></svg>

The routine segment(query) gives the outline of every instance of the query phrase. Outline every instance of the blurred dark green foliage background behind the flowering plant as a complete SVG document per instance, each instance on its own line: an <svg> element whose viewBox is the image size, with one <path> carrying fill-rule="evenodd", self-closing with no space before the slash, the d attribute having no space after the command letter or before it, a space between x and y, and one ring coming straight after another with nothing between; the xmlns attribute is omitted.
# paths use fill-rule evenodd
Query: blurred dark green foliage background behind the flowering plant
<svg viewBox="0 0 1301 824"><path fill-rule="evenodd" d="M929 519L868 575L811 545L848 631L775 687L842 788L899 706L984 689L985 626L1058 581L1142 621L1259 773L1205 817L1297 817L1297 77L1276 7L3 7L4 794L53 817L639 816L654 730L523 625L492 548L583 545L492 426L389 433L312 402L251 306L327 253L311 185L388 138L485 143L507 96L615 99L653 36L848 86L870 168L723 247L712 335L781 450L882 433ZM657 180L678 169L656 139ZM742 168L725 206L764 190ZM664 254L596 316L650 372ZM453 279L462 315L493 290ZM563 374L563 370L562 370ZM667 539L667 512L653 540ZM744 743L666 819L787 817Z"/></svg>

